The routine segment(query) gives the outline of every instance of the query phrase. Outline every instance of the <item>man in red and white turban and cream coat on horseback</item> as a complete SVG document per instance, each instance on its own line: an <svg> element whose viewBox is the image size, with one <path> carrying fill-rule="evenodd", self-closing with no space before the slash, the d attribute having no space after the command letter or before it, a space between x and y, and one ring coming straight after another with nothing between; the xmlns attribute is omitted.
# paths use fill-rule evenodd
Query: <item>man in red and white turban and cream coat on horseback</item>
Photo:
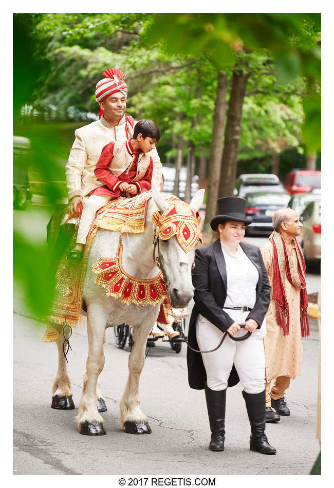
<svg viewBox="0 0 334 488"><path fill-rule="evenodd" d="M107 69L104 78L96 85L96 101L100 105L100 118L76 130L66 164L69 213L75 213L83 205L89 193L96 188L95 166L103 147L111 141L131 139L136 121L125 116L127 85L124 73L119 69ZM152 154L151 154L152 153ZM160 188L161 162L156 149L150 153L153 159L152 187Z"/></svg>

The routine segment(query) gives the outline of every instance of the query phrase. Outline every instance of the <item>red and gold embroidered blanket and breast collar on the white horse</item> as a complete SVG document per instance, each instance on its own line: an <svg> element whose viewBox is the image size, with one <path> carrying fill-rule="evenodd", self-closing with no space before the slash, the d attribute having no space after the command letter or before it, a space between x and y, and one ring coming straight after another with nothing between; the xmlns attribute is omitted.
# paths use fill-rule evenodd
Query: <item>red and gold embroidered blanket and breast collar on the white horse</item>
<svg viewBox="0 0 334 488"><path fill-rule="evenodd" d="M118 231L121 234L142 233L145 230L147 202L152 192L142 193L134 198L118 198L108 202L98 212L87 236L83 258L79 261L67 259L69 249L75 246L77 232L73 235L55 275L55 296L44 342L54 342L65 324L74 327L82 309L82 288L89 249L99 228ZM115 258L101 258L94 266L97 283L106 288L108 296L114 296L123 303L161 303L167 296L162 275L159 272L150 280L138 280L128 276L122 268L122 240Z"/></svg>

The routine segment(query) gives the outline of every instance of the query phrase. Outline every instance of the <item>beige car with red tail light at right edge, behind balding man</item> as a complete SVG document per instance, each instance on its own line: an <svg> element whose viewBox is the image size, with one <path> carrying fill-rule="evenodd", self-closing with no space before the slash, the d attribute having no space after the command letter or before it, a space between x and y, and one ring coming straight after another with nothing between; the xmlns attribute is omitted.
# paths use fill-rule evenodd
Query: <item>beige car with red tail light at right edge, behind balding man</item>
<svg viewBox="0 0 334 488"><path fill-rule="evenodd" d="M299 237L305 261L321 259L321 200L314 200L302 213L302 234Z"/></svg>

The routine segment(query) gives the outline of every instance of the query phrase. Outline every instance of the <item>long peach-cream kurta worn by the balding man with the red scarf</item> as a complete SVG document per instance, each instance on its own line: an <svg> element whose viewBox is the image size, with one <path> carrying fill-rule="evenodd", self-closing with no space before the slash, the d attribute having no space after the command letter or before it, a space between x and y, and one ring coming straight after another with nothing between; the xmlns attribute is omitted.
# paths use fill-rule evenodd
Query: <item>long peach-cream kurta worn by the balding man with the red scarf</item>
<svg viewBox="0 0 334 488"><path fill-rule="evenodd" d="M297 268L298 259L294 248L292 252L293 262ZM272 243L268 241L261 248L261 253L268 273L269 283L272 287ZM285 281L285 289L290 315L289 334L286 336L283 335L283 328L277 324L272 290L270 292L270 305L266 314L267 335L264 339L267 383L279 376L294 378L301 374L303 346L300 321L300 290L292 286L288 279Z"/></svg>

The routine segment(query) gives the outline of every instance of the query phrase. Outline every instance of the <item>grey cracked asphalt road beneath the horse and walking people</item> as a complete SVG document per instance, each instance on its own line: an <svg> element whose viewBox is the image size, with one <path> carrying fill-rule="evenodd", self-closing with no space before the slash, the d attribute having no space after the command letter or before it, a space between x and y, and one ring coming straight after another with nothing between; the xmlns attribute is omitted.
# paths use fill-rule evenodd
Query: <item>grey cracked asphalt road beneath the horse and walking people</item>
<svg viewBox="0 0 334 488"><path fill-rule="evenodd" d="M45 238L43 226L48 214L43 212L15 212L14 225L35 239ZM320 277L313 278L316 288ZM116 347L112 329L108 330L105 367L100 376L108 408L102 414L107 435L86 437L79 434L74 422L87 358L86 332L72 335L68 354L76 409L53 410L51 386L57 348L42 343L45 327L29 318L17 287L13 314L14 474L211 475L216 486L224 482L220 475L307 475L319 454L315 437L319 334L317 321L310 320L310 325L311 335L303 340L302 375L291 382L286 395L291 416L267 424L266 433L277 449L276 456L249 451L250 428L240 384L228 390L225 452L209 451L205 396L188 386L186 349L183 345L176 354L161 340L150 349L140 380L141 408L149 417L152 434L125 434L119 425L119 401L127 380L128 348Z"/></svg>

